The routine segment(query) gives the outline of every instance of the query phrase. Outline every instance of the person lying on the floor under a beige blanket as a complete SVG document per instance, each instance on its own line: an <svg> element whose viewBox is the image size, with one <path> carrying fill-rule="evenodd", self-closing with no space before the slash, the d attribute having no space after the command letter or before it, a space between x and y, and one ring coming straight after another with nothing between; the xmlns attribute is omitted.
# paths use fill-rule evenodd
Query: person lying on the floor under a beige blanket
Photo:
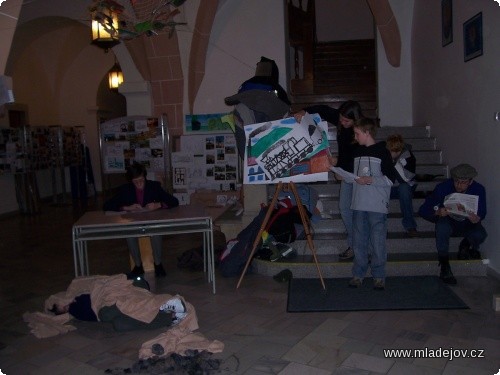
<svg viewBox="0 0 500 375"><path fill-rule="evenodd" d="M45 311L78 320L110 322L117 331L185 326L198 329L194 307L179 295L153 294L141 277L125 274L75 278L65 292L50 296ZM186 320L186 321L185 321Z"/></svg>

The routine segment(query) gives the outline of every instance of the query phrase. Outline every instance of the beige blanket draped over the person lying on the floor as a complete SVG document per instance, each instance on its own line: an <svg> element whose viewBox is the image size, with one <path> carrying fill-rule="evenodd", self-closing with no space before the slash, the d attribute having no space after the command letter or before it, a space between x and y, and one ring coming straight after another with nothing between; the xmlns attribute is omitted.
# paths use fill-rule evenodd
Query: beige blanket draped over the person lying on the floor
<svg viewBox="0 0 500 375"><path fill-rule="evenodd" d="M132 285L132 280L127 280L126 275L115 276L89 276L73 279L65 292L50 296L45 301L45 312L26 312L23 319L31 328L31 333L38 338L56 336L76 328L67 324L71 320L69 314L53 315L49 309L54 304L65 306L71 303L75 297L81 294L90 294L92 310L95 314L104 306L116 304L120 311L132 318L145 323L151 322L160 306L172 298L170 294L153 294L142 288ZM201 333L193 332L198 329L196 311L189 302L186 302L187 316L179 324L169 327L154 339L142 344L139 350L139 358L152 357L152 347L160 344L164 349L164 355L170 353L185 354L186 350L206 350L218 353L224 350L224 344L220 341L210 341Z"/></svg>

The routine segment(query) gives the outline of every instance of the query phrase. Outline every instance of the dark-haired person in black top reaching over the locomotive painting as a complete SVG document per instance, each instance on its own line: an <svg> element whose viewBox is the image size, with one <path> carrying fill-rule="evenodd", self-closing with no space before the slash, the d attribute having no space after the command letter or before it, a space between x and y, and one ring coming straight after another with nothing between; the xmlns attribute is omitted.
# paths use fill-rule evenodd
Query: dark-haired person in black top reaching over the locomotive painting
<svg viewBox="0 0 500 375"><path fill-rule="evenodd" d="M356 147L358 147L358 144L354 139L353 125L355 121L364 117L361 105L354 100L348 100L342 103L338 110L324 104L306 107L294 114L295 120L300 122L305 112L317 113L323 120L337 126L338 157L332 157L330 159L330 163L334 167L342 168L344 171L352 173L354 165L353 153ZM344 223L345 230L347 232L347 249L339 255L339 258L351 259L354 257L351 210L353 181L347 181L338 173L335 173L335 178L341 181L339 210L342 222Z"/></svg>

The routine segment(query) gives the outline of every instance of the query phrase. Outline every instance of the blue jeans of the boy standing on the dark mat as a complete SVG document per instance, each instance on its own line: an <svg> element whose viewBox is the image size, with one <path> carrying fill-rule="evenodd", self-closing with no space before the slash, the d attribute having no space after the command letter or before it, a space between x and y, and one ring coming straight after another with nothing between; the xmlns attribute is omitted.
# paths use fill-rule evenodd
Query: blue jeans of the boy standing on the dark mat
<svg viewBox="0 0 500 375"><path fill-rule="evenodd" d="M364 278L368 271L368 265L370 265L374 278L385 278L386 237L387 214L353 211L354 261L352 274L354 277ZM371 255L370 264L368 263L368 255Z"/></svg>

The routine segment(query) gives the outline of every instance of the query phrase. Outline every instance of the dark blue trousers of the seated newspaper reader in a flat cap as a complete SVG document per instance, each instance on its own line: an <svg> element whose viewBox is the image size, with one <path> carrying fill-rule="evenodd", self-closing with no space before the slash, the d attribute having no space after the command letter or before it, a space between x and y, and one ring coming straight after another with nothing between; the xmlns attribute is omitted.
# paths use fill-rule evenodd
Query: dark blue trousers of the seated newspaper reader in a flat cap
<svg viewBox="0 0 500 375"><path fill-rule="evenodd" d="M467 238L474 250L479 250L479 245L488 237L488 233L481 223L473 224L468 219L458 221L449 216L440 217L436 221L436 248L439 257L449 256L451 236Z"/></svg>

